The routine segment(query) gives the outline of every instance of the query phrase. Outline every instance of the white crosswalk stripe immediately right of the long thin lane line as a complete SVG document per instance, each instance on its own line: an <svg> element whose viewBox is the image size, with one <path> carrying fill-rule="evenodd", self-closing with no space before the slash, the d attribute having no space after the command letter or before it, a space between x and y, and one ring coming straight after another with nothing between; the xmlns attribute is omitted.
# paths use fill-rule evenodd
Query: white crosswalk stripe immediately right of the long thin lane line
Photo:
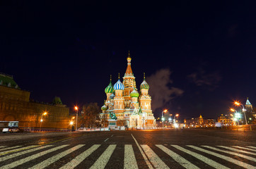
<svg viewBox="0 0 256 169"><path fill-rule="evenodd" d="M155 168L169 168L148 145L141 144L141 147Z"/></svg>

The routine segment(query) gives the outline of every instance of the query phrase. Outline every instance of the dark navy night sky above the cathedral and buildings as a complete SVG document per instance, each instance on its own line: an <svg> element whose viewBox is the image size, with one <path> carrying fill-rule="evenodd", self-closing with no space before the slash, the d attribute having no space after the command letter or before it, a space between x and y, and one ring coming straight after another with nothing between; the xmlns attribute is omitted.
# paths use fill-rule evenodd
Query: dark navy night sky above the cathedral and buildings
<svg viewBox="0 0 256 169"><path fill-rule="evenodd" d="M168 108L216 118L235 99L256 103L255 4L59 2L1 4L0 72L32 99L102 106L109 75L113 83L124 75L130 51L137 87L146 72L162 96L156 116Z"/></svg>

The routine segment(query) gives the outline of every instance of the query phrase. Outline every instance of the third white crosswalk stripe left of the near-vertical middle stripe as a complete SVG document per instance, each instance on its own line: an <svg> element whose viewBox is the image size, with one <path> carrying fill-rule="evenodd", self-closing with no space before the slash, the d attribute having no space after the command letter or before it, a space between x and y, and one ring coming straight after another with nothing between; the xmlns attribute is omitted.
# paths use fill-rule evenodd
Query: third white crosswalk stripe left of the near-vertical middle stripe
<svg viewBox="0 0 256 169"><path fill-rule="evenodd" d="M55 156L52 156L51 158L47 158L45 161L42 161L41 163L38 163L37 165L34 165L33 167L31 167L30 169L33 168L46 168L48 165L50 165L51 163L54 163L56 161L58 161L60 158L71 154L73 151L76 151L77 149L80 149L82 146L84 146L85 144L78 144L77 146L72 147L71 149L68 149L66 151L63 151L60 154L57 154Z"/></svg>

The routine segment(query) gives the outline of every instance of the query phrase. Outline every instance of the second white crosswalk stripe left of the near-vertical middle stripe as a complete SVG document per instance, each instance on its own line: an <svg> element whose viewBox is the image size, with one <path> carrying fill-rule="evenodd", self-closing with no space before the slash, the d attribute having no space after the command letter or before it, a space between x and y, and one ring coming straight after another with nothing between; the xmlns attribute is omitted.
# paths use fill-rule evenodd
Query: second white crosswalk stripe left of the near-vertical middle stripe
<svg viewBox="0 0 256 169"><path fill-rule="evenodd" d="M93 153L93 151L98 149L99 146L100 146L100 144L95 144L95 145L91 146L90 149L87 149L82 154L79 154L78 156L76 156L76 158L74 158L72 161L70 161L69 163L66 163L66 165L62 166L61 169L75 168L79 163L81 163L84 159L86 159L88 156L90 156Z"/></svg>

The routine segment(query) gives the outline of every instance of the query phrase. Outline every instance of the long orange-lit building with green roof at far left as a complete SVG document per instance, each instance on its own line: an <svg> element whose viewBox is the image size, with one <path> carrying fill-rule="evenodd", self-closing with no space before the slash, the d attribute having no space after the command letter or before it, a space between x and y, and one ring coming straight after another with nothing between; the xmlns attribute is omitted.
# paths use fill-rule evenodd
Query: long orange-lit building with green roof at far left
<svg viewBox="0 0 256 169"><path fill-rule="evenodd" d="M47 112L47 115L42 113ZM42 118L42 122L40 121ZM70 128L69 108L55 97L52 104L30 100L10 75L0 74L0 121L19 121L20 127Z"/></svg>

